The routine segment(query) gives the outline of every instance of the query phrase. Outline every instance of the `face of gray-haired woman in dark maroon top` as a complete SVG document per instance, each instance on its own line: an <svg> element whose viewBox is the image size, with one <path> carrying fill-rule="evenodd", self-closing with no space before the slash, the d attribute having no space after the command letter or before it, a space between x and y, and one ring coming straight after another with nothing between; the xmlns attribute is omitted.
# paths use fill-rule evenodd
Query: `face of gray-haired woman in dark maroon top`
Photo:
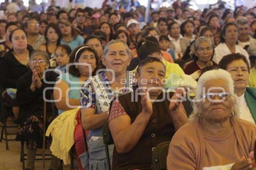
<svg viewBox="0 0 256 170"><path fill-rule="evenodd" d="M213 55L213 48L210 42L203 41L198 44L198 49L195 51L195 55L201 62L208 62L211 60Z"/></svg>

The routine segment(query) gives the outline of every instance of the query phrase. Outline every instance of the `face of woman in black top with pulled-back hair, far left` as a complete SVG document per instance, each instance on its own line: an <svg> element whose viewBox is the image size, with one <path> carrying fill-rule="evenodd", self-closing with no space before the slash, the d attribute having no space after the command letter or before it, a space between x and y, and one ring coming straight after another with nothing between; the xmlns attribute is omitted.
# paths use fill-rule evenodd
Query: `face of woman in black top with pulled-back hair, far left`
<svg viewBox="0 0 256 170"><path fill-rule="evenodd" d="M11 44L13 49L24 50L27 48L27 37L25 32L21 30L16 30L11 38Z"/></svg>

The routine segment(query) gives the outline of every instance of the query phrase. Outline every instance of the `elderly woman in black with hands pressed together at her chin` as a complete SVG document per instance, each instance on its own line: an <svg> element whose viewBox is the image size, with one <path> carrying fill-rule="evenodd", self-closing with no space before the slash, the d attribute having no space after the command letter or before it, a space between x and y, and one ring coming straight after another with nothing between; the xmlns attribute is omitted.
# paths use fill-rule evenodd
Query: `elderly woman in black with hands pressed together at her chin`
<svg viewBox="0 0 256 170"><path fill-rule="evenodd" d="M30 56L30 71L24 74L17 82L16 100L19 105L19 115L17 122L20 123L16 140L26 141L27 144L27 170L34 169L36 149L42 148L43 141L43 108L44 96L50 100L52 89L44 91L48 87L54 86L58 74L54 71L44 71L49 68L49 57L41 50L35 50ZM45 93L45 94L43 94ZM47 127L53 120L51 103L46 103ZM51 139L46 138L46 148L50 147ZM50 168L58 167L58 159L52 156Z"/></svg>

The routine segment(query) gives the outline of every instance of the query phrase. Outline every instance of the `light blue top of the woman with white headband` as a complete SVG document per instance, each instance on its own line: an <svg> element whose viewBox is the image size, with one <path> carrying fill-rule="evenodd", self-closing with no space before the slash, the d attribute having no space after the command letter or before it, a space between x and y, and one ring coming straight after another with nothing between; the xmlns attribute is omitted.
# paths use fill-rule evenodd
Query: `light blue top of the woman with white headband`
<svg viewBox="0 0 256 170"><path fill-rule="evenodd" d="M69 90L69 93L68 93L69 99L80 99L80 90L83 85L83 82L81 82L78 77L75 77L69 73L64 73L64 74L61 74L58 77L58 79L65 81L68 84L69 88L73 88L73 87L76 88L76 89ZM66 93L66 92L64 92L64 93ZM61 114L62 112L64 112L64 111L59 110L58 114Z"/></svg>

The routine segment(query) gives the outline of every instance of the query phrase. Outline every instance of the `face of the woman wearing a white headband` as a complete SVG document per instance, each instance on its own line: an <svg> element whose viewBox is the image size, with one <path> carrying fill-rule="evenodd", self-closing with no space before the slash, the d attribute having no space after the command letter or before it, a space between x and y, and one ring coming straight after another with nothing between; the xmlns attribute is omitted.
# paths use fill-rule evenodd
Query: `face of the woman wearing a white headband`
<svg viewBox="0 0 256 170"><path fill-rule="evenodd" d="M93 52L91 51L84 51L78 59L78 63L87 63L90 65L78 65L78 69L81 75L89 76L92 75L92 72L96 68L96 57Z"/></svg>

